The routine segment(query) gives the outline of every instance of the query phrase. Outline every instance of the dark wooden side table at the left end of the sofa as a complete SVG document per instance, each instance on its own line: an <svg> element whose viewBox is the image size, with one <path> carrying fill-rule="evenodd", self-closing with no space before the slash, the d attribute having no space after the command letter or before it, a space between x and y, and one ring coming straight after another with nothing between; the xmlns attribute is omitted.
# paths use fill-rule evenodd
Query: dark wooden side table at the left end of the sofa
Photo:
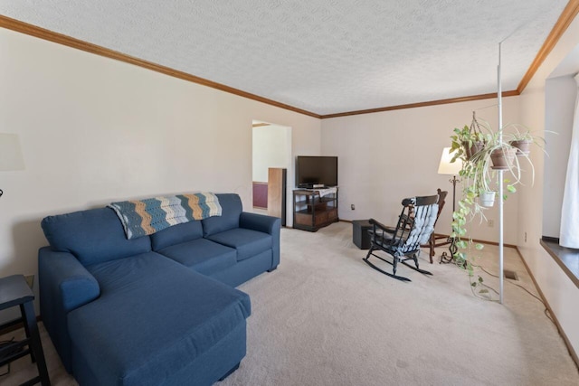
<svg viewBox="0 0 579 386"><path fill-rule="evenodd" d="M0 349L0 367L30 354L32 361L36 362L36 366L38 367L38 376L30 381L24 382L23 385L33 385L41 382L43 386L50 386L51 381L46 371L43 344L38 333L38 325L36 325L33 300L33 291L28 287L23 275L0 278L0 310L20 306L20 314L22 317L16 322L23 322L26 333L26 338L22 341L10 347ZM0 330L2 330L4 326L5 325L0 325ZM24 348L24 346L28 346L28 348L25 350L17 350ZM9 351L15 351L15 353L8 353Z"/></svg>

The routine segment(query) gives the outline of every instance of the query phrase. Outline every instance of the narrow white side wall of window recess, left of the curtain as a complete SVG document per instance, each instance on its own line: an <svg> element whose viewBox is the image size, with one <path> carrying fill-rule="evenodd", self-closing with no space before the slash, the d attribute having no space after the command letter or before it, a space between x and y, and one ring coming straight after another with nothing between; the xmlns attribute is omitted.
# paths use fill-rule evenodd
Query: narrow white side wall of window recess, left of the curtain
<svg viewBox="0 0 579 386"><path fill-rule="evenodd" d="M545 158L543 173L543 236L557 239L561 228L561 207L576 97L577 83L573 75L546 80L545 127L549 132L545 133L548 156Z"/></svg>

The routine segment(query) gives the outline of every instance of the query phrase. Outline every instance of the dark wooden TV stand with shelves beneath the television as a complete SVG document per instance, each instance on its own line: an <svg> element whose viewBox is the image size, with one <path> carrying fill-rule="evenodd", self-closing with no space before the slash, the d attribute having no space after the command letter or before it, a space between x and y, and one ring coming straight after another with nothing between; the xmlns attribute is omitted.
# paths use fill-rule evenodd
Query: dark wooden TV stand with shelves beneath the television
<svg viewBox="0 0 579 386"><path fill-rule="evenodd" d="M323 192L323 190L322 190ZM293 191L293 227L303 231L318 231L337 217L337 190L323 197L320 190L296 189Z"/></svg>

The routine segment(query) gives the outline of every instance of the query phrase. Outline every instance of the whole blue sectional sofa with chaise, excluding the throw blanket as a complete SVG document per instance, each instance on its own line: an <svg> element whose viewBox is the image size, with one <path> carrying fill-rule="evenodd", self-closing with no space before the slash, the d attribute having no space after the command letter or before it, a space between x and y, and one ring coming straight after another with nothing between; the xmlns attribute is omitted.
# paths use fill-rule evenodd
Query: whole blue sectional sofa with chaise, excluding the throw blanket
<svg viewBox="0 0 579 386"><path fill-rule="evenodd" d="M81 385L210 385L245 355L250 298L234 287L280 263L280 219L242 212L128 240L100 208L43 219L41 315Z"/></svg>

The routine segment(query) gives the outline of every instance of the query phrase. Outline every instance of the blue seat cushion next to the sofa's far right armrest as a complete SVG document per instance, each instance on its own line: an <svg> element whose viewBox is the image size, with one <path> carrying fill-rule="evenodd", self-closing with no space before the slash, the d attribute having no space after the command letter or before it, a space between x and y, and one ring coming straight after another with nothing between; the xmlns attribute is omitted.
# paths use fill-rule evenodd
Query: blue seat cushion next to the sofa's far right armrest
<svg viewBox="0 0 579 386"><path fill-rule="evenodd" d="M208 236L207 239L237 249L237 261L271 249L271 235L261 231L236 228Z"/></svg>

